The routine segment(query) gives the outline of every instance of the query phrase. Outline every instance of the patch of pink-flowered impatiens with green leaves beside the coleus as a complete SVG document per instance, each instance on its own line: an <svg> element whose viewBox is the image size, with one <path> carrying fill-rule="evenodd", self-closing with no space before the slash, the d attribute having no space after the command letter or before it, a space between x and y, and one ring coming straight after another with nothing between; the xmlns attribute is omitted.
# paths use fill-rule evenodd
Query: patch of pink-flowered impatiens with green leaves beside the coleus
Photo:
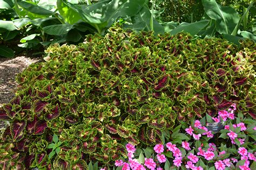
<svg viewBox="0 0 256 170"><path fill-rule="evenodd" d="M212 123L212 119L206 120L206 117L200 119L200 121L192 119L191 126L184 123L177 126L172 135L164 135L169 142L164 145L155 145L153 147L154 153L147 154L152 147L142 150L127 144L127 162L126 159L120 159L116 160L114 165L122 167L124 170L146 168L151 170L254 169L256 166L254 146L256 121L244 118L240 112L238 118L230 117L234 109L235 107L229 112L225 110L218 112L217 119L226 119L222 122L226 128L220 130L220 132L208 130L210 127L207 124ZM209 115L207 117L210 118ZM229 125L232 126L232 130L229 129L229 131L234 131L237 135L226 139L227 126ZM190 133L191 131L192 133ZM173 135L178 133L181 136L186 136L187 139L179 139ZM209 136L210 133L213 133L215 138ZM200 134L201 137L194 138L193 134ZM224 138L224 140L221 138Z"/></svg>

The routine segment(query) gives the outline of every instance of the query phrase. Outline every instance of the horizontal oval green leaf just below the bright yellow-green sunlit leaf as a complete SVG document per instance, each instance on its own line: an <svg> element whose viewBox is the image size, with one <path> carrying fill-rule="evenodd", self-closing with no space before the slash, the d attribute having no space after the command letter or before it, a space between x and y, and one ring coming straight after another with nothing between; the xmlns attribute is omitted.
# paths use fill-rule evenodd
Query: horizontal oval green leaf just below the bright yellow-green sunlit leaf
<svg viewBox="0 0 256 170"><path fill-rule="evenodd" d="M73 26L70 24L58 24L45 26L43 31L49 35L63 35L69 32L72 28Z"/></svg>

